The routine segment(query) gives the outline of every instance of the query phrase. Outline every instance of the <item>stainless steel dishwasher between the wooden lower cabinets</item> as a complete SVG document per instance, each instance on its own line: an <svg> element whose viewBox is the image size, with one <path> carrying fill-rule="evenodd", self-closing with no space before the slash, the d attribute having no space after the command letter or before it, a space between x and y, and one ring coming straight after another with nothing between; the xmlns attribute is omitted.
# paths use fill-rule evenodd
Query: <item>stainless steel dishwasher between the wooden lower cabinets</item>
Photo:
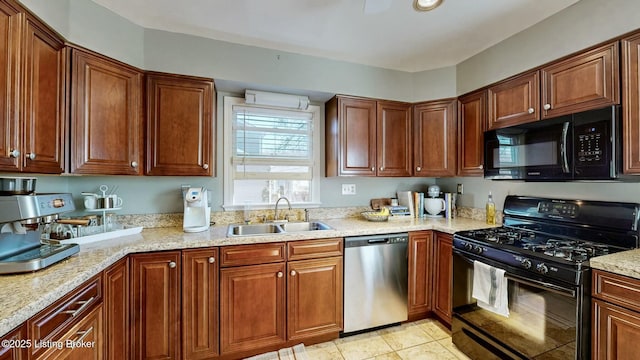
<svg viewBox="0 0 640 360"><path fill-rule="evenodd" d="M407 233L344 239L344 330L407 320Z"/></svg>

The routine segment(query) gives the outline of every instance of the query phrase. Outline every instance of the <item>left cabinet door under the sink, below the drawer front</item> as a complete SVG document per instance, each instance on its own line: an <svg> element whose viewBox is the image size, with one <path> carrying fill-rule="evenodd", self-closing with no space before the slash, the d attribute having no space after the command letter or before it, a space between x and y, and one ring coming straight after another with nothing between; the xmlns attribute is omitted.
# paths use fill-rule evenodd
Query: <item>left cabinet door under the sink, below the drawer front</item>
<svg viewBox="0 0 640 360"><path fill-rule="evenodd" d="M286 342L285 264L220 270L220 352Z"/></svg>

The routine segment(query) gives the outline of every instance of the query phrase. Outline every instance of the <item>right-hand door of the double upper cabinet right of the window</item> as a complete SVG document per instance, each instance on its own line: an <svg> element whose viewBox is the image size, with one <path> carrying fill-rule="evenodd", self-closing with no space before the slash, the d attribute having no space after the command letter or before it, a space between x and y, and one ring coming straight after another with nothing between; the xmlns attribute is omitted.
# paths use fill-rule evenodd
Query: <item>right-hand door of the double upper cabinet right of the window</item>
<svg viewBox="0 0 640 360"><path fill-rule="evenodd" d="M378 176L411 176L411 104L377 103Z"/></svg>

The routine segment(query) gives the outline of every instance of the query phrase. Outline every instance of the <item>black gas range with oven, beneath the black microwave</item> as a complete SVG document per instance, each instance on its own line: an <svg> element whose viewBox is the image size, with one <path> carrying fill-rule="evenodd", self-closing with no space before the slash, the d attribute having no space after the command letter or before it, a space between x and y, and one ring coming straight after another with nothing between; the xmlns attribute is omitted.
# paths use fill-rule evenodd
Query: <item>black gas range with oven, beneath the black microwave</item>
<svg viewBox="0 0 640 360"><path fill-rule="evenodd" d="M640 204L507 196L503 225L453 237L454 344L473 359L590 358L589 259L637 248ZM509 315L472 297L504 270Z"/></svg>

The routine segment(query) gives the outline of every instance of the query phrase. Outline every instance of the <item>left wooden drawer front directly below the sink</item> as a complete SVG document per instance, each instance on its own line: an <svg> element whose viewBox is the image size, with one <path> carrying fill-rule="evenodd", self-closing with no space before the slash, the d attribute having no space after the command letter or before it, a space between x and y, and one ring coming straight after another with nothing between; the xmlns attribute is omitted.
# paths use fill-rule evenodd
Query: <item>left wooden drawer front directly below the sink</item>
<svg viewBox="0 0 640 360"><path fill-rule="evenodd" d="M284 243L236 245L220 249L220 266L255 265L284 261Z"/></svg>

